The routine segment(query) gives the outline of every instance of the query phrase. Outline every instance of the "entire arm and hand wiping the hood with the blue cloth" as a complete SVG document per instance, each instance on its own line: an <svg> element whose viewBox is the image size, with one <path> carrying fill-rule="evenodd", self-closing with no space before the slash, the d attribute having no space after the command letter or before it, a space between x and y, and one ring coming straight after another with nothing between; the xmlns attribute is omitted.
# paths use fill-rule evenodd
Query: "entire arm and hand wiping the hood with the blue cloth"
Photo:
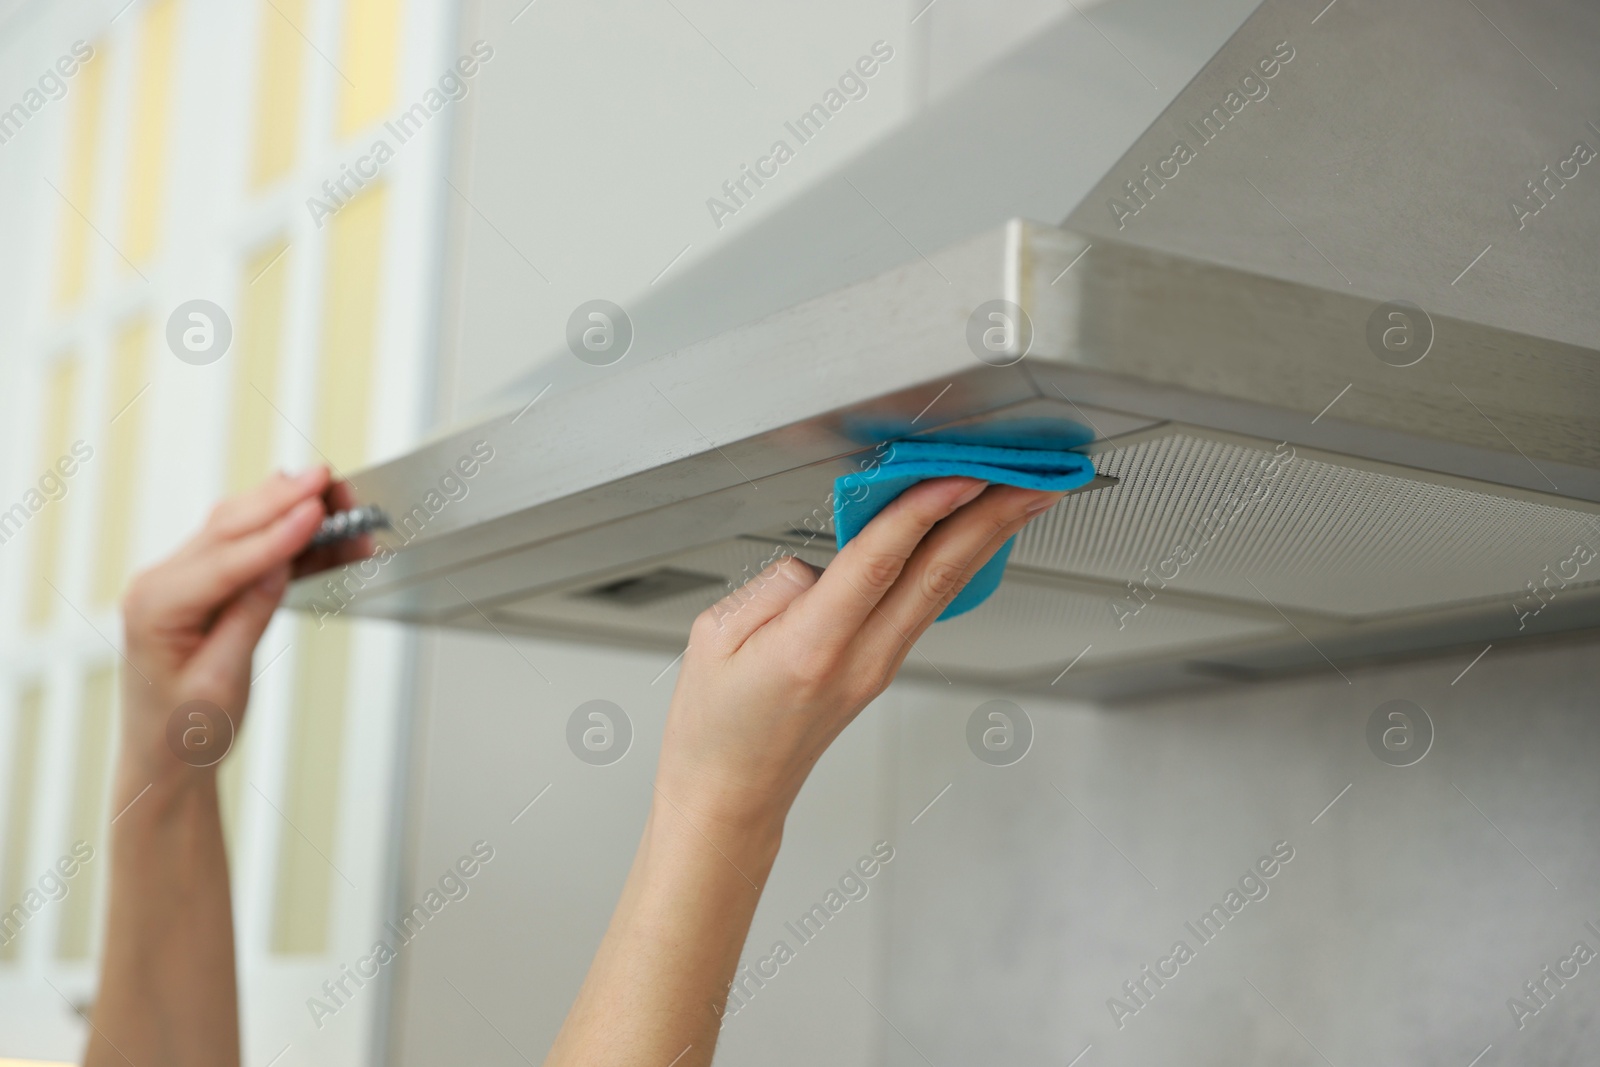
<svg viewBox="0 0 1600 1067"><path fill-rule="evenodd" d="M925 482L821 574L782 560L690 632L656 800L547 1067L706 1067L784 817L966 581L1061 493Z"/></svg>

